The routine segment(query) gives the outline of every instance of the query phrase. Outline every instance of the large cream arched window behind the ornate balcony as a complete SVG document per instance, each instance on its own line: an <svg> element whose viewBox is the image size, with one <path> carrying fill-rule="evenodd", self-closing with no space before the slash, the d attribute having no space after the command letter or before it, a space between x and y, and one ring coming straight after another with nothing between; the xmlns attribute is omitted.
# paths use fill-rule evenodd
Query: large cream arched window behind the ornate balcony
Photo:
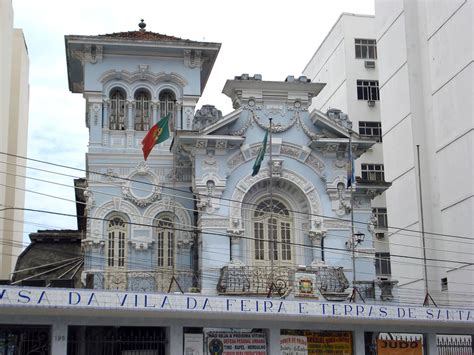
<svg viewBox="0 0 474 355"><path fill-rule="evenodd" d="M281 201L260 202L253 214L254 260L293 263L292 225L291 214Z"/></svg>

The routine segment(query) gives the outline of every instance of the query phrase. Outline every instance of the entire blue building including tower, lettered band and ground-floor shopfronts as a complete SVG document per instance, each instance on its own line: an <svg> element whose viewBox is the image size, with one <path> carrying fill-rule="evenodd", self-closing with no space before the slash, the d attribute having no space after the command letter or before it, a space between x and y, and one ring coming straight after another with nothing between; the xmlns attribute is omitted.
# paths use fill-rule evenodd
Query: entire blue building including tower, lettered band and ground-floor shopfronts
<svg viewBox="0 0 474 355"><path fill-rule="evenodd" d="M84 288L0 287L0 344L41 334L52 354L370 354L389 332L418 334L391 346L431 355L437 333L472 332L470 310L392 303L376 282L371 202L387 185L348 186L350 158L376 140L340 111L310 112L324 84L243 74L223 89L234 111L196 110L220 44L139 26L66 36L89 128ZM171 137L145 161L140 143L163 116Z"/></svg>

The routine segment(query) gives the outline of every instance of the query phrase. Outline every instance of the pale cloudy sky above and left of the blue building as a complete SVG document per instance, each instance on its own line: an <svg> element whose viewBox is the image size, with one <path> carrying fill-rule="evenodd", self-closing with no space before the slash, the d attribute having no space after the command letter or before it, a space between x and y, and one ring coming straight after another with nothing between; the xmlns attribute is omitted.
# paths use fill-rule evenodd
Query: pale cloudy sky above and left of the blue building
<svg viewBox="0 0 474 355"><path fill-rule="evenodd" d="M227 79L301 75L339 15L373 14L374 0L13 0L13 10L30 59L28 157L79 169L29 161L27 175L51 183L29 179L25 207L75 214L73 179L85 175L88 130L85 100L68 89L65 35L134 31L144 19L148 31L222 43L197 109L212 104L227 114L231 101L221 93ZM76 219L27 212L24 242L30 232L60 228L76 229Z"/></svg>

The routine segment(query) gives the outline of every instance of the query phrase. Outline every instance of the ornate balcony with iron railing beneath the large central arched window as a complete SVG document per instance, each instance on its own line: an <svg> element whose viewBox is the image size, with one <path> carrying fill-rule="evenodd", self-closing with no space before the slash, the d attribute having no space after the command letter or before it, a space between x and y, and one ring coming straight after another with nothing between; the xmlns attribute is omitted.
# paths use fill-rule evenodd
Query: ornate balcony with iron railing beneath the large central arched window
<svg viewBox="0 0 474 355"><path fill-rule="evenodd" d="M268 296L344 300L349 282L342 267L321 264L289 268L269 266L225 266L217 285L221 295Z"/></svg>

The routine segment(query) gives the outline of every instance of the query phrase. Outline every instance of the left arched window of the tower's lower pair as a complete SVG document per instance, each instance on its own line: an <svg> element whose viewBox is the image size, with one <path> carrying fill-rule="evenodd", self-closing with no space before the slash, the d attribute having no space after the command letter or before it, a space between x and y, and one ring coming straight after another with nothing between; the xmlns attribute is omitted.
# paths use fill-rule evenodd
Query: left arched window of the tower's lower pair
<svg viewBox="0 0 474 355"><path fill-rule="evenodd" d="M125 268L127 225L120 217L113 217L107 225L107 266Z"/></svg>

